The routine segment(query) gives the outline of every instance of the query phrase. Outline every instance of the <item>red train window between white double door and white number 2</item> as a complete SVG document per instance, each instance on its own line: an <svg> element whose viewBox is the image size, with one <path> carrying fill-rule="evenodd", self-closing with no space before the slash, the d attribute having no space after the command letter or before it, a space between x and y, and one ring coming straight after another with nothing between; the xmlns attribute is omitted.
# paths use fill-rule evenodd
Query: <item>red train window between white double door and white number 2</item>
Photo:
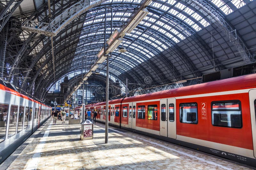
<svg viewBox="0 0 256 170"><path fill-rule="evenodd" d="M180 122L197 124L197 103L180 103Z"/></svg>

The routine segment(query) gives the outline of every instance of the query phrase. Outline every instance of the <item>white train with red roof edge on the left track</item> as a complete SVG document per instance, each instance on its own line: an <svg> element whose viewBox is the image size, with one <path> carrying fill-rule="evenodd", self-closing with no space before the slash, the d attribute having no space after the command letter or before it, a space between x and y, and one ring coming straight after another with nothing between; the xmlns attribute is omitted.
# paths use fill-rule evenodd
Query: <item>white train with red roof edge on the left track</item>
<svg viewBox="0 0 256 170"><path fill-rule="evenodd" d="M7 87L8 86L8 87ZM51 116L52 108L0 82L0 163Z"/></svg>

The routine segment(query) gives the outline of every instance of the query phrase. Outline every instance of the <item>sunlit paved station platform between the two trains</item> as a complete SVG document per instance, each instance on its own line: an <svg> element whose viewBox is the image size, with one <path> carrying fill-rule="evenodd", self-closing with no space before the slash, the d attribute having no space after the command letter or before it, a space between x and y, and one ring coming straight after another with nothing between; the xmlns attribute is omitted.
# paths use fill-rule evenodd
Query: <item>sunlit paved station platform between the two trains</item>
<svg viewBox="0 0 256 170"><path fill-rule="evenodd" d="M12 153L0 169L250 169L232 161L158 139L94 124L93 139L80 140L80 125L48 119Z"/></svg>

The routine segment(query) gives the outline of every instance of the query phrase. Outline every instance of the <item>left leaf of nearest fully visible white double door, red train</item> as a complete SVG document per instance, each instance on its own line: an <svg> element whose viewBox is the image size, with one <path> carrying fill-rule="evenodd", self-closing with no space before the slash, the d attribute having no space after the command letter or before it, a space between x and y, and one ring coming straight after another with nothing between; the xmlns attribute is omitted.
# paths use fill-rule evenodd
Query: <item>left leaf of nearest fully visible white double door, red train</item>
<svg viewBox="0 0 256 170"><path fill-rule="evenodd" d="M167 99L160 100L160 135L167 137Z"/></svg>

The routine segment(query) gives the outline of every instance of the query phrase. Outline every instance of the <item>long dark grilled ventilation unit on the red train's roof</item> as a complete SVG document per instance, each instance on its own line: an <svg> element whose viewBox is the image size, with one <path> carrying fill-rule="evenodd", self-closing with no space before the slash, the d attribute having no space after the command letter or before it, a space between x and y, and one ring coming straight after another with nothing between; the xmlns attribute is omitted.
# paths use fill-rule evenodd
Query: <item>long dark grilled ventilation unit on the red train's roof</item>
<svg viewBox="0 0 256 170"><path fill-rule="evenodd" d="M202 82L204 83L209 81L222 80L230 77L236 77L253 73L256 73L256 62L204 74L202 76Z"/></svg>

